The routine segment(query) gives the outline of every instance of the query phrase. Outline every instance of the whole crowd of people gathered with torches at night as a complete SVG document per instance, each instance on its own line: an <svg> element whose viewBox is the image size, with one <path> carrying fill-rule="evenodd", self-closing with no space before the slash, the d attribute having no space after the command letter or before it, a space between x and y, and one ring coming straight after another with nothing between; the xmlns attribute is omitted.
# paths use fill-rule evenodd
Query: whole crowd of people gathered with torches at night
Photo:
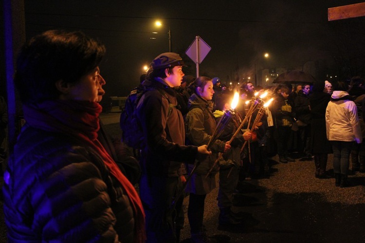
<svg viewBox="0 0 365 243"><path fill-rule="evenodd" d="M104 54L81 32L47 31L22 47L14 81L26 123L4 172L8 242L179 242L185 195L191 242L209 242L204 201L217 178L219 224L230 226L242 223L232 210L238 182L270 177L276 154L279 163L314 159L325 179L333 152L336 187L349 186L350 157L351 170L365 172L362 78L221 89L218 77L185 76L176 53L156 56L141 79L143 138L131 160L99 119Z"/></svg>

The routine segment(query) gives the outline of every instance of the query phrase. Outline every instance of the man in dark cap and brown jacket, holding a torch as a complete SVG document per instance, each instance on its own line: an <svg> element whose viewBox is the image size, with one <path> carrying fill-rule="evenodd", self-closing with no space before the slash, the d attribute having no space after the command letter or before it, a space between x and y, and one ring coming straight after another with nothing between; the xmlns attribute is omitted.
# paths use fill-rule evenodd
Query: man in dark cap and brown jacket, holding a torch
<svg viewBox="0 0 365 243"><path fill-rule="evenodd" d="M184 146L184 120L174 89L181 85L183 66L177 53L156 56L143 84L148 91L137 105L144 134L139 186L148 243L179 242L184 215L183 197L177 197L185 182L184 162L194 164L211 153L206 145Z"/></svg>

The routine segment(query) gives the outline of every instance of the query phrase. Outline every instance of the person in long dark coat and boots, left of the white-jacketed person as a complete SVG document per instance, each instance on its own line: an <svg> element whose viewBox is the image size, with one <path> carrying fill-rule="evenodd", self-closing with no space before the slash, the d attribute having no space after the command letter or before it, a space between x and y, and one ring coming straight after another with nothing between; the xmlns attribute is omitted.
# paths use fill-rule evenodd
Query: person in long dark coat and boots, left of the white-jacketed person
<svg viewBox="0 0 365 243"><path fill-rule="evenodd" d="M323 92L325 82L317 81L313 85L313 93L309 96L311 113L310 150L314 155L315 177L330 178L326 174L328 154L332 153L332 146L326 134L326 108L331 98Z"/></svg>

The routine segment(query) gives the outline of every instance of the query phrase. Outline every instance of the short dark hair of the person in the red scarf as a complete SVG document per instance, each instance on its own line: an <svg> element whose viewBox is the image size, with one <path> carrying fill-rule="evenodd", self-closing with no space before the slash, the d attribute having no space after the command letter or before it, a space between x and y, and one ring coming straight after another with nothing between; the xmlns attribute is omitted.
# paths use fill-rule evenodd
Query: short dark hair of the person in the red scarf
<svg viewBox="0 0 365 243"><path fill-rule="evenodd" d="M79 31L50 30L27 41L14 77L22 103L39 103L59 96L55 83L75 83L101 62L105 47Z"/></svg>

